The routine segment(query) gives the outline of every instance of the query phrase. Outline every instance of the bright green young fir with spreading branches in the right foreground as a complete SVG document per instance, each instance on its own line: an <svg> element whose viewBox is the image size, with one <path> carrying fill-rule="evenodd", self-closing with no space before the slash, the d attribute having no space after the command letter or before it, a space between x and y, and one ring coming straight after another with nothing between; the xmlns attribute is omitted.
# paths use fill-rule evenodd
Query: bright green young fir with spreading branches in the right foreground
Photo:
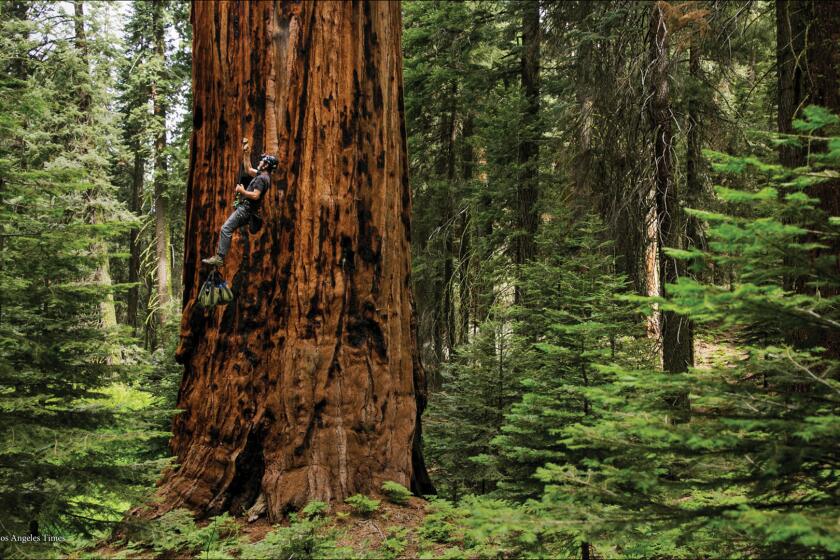
<svg viewBox="0 0 840 560"><path fill-rule="evenodd" d="M798 126L808 134L838 122L817 109L806 114ZM718 172L758 175L765 186L719 187L729 212L690 211L708 224L708 250L670 251L695 267L730 269L732 284L683 278L660 304L737 347L686 374L602 368L610 382L585 391L597 421L563 430L558 440L569 452L539 476L551 515L575 520L571 533L599 554L840 552L840 362L789 342L802 331L840 335L840 298L824 295L840 283L837 255L824 251L840 220L805 193L840 166L840 138L826 144L795 171L707 153ZM791 277L806 279L808 292L787 289ZM674 423L669 396L679 393L690 395L691 417Z"/></svg>

